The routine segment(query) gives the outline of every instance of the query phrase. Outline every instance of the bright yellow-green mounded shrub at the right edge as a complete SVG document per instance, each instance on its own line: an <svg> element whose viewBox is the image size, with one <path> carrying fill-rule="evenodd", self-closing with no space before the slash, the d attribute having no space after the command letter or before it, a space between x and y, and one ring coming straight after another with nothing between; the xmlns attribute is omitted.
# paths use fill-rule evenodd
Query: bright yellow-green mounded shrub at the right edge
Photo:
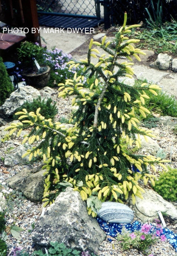
<svg viewBox="0 0 177 256"><path fill-rule="evenodd" d="M164 199L177 201L177 169L168 167L167 172L160 174L159 180L155 181L155 191Z"/></svg>

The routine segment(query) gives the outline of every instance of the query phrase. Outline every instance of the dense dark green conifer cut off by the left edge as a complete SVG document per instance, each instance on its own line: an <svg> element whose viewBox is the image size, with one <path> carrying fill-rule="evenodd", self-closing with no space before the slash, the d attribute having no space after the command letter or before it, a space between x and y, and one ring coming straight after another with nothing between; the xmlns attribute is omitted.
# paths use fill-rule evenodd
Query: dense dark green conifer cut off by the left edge
<svg viewBox="0 0 177 256"><path fill-rule="evenodd" d="M3 59L0 57L0 105L3 105L5 99L10 96L13 90L14 87L7 74Z"/></svg>

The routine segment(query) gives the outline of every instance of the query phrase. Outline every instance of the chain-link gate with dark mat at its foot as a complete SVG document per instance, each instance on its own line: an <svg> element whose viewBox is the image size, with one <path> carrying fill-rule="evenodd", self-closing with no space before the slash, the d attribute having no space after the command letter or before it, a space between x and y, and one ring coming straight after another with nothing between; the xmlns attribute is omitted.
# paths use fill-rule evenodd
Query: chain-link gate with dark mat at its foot
<svg viewBox="0 0 177 256"><path fill-rule="evenodd" d="M110 27L111 0L37 0L39 25L53 27L96 27L105 23ZM104 19L101 17L100 5L103 5ZM65 18L67 17L67 18Z"/></svg>

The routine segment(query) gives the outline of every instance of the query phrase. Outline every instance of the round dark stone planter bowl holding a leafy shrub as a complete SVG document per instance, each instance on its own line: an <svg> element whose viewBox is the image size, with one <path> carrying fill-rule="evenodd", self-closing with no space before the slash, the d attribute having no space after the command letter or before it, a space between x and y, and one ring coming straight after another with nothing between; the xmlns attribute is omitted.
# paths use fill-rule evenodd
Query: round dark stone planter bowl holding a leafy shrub
<svg viewBox="0 0 177 256"><path fill-rule="evenodd" d="M50 79L50 67L47 66L47 70L40 73L40 74L26 74L23 73L23 78L26 81L26 85L33 86L35 88L43 88L47 85Z"/></svg>

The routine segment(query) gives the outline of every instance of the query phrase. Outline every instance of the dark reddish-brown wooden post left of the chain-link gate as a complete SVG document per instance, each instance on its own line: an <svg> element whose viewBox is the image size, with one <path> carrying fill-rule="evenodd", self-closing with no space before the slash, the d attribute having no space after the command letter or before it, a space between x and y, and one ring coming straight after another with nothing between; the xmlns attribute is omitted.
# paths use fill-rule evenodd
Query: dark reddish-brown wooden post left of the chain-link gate
<svg viewBox="0 0 177 256"><path fill-rule="evenodd" d="M29 33L26 33L27 41L38 42L41 46L39 29L38 15L37 15L37 4L36 0L22 0L23 16L25 19L25 26L29 29ZM33 31L32 31L33 28ZM35 30L34 30L35 29ZM34 33L32 33L34 32Z"/></svg>

